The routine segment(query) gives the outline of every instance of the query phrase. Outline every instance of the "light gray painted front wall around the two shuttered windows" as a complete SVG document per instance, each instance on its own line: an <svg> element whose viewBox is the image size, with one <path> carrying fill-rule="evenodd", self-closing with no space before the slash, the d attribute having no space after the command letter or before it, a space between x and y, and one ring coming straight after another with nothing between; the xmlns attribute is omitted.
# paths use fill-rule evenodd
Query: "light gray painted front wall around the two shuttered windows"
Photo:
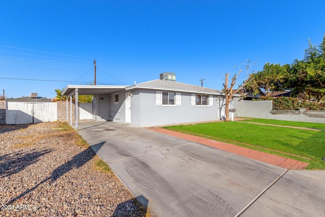
<svg viewBox="0 0 325 217"><path fill-rule="evenodd" d="M213 105L211 106L192 106L191 93L188 92L181 92L181 105L177 106L156 105L156 90L142 89L138 96L140 98L140 121L132 122L132 125L152 127L218 119L216 96L213 96ZM132 100L134 97L135 95ZM134 107L132 108L134 109Z"/></svg>

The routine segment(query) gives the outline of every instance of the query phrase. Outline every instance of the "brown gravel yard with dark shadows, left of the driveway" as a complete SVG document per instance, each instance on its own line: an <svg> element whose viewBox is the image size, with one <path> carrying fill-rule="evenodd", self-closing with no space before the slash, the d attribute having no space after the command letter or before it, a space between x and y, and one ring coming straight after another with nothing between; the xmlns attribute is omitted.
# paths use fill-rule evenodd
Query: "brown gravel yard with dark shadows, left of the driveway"
<svg viewBox="0 0 325 217"><path fill-rule="evenodd" d="M0 216L150 216L78 140L59 122L0 126Z"/></svg>

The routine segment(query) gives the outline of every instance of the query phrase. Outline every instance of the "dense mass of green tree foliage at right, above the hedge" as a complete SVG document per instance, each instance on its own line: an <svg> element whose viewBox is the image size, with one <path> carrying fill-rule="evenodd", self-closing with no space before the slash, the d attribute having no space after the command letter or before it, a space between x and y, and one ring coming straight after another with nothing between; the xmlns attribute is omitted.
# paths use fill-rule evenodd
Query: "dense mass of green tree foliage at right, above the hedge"
<svg viewBox="0 0 325 217"><path fill-rule="evenodd" d="M273 91L292 90L294 94L302 92L305 101L316 99L318 102L325 96L325 35L317 47L309 40L302 60L295 59L291 65L264 65L262 71L252 73L254 80L246 88L258 92L261 88L270 96Z"/></svg>

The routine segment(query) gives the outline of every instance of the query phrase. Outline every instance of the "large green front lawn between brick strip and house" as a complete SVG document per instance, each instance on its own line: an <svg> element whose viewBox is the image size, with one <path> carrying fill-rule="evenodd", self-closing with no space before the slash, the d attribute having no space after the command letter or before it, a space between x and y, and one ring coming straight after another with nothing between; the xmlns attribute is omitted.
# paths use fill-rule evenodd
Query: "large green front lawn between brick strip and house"
<svg viewBox="0 0 325 217"><path fill-rule="evenodd" d="M274 124L274 123L273 123ZM296 159L309 163L307 169L325 169L325 132L300 130L293 128L282 128L265 125L253 125L243 122L214 122L202 123L198 125L181 125L165 127L169 130L186 131L189 134L202 134L215 140L270 152L279 156ZM240 142L240 143L237 143ZM255 145L262 148L283 151L297 156L310 158L306 160L288 154L270 151L258 147L252 147L242 143Z"/></svg>

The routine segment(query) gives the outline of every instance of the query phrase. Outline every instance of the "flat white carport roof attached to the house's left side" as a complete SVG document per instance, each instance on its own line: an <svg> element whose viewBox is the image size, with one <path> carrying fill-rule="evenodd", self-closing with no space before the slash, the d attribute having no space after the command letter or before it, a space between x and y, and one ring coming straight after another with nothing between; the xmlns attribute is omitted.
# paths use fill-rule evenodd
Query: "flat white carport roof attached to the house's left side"
<svg viewBox="0 0 325 217"><path fill-rule="evenodd" d="M67 85L63 89L62 96L75 95L76 89L78 88L79 95L95 95L95 94L112 94L113 92L125 90L122 85Z"/></svg>

